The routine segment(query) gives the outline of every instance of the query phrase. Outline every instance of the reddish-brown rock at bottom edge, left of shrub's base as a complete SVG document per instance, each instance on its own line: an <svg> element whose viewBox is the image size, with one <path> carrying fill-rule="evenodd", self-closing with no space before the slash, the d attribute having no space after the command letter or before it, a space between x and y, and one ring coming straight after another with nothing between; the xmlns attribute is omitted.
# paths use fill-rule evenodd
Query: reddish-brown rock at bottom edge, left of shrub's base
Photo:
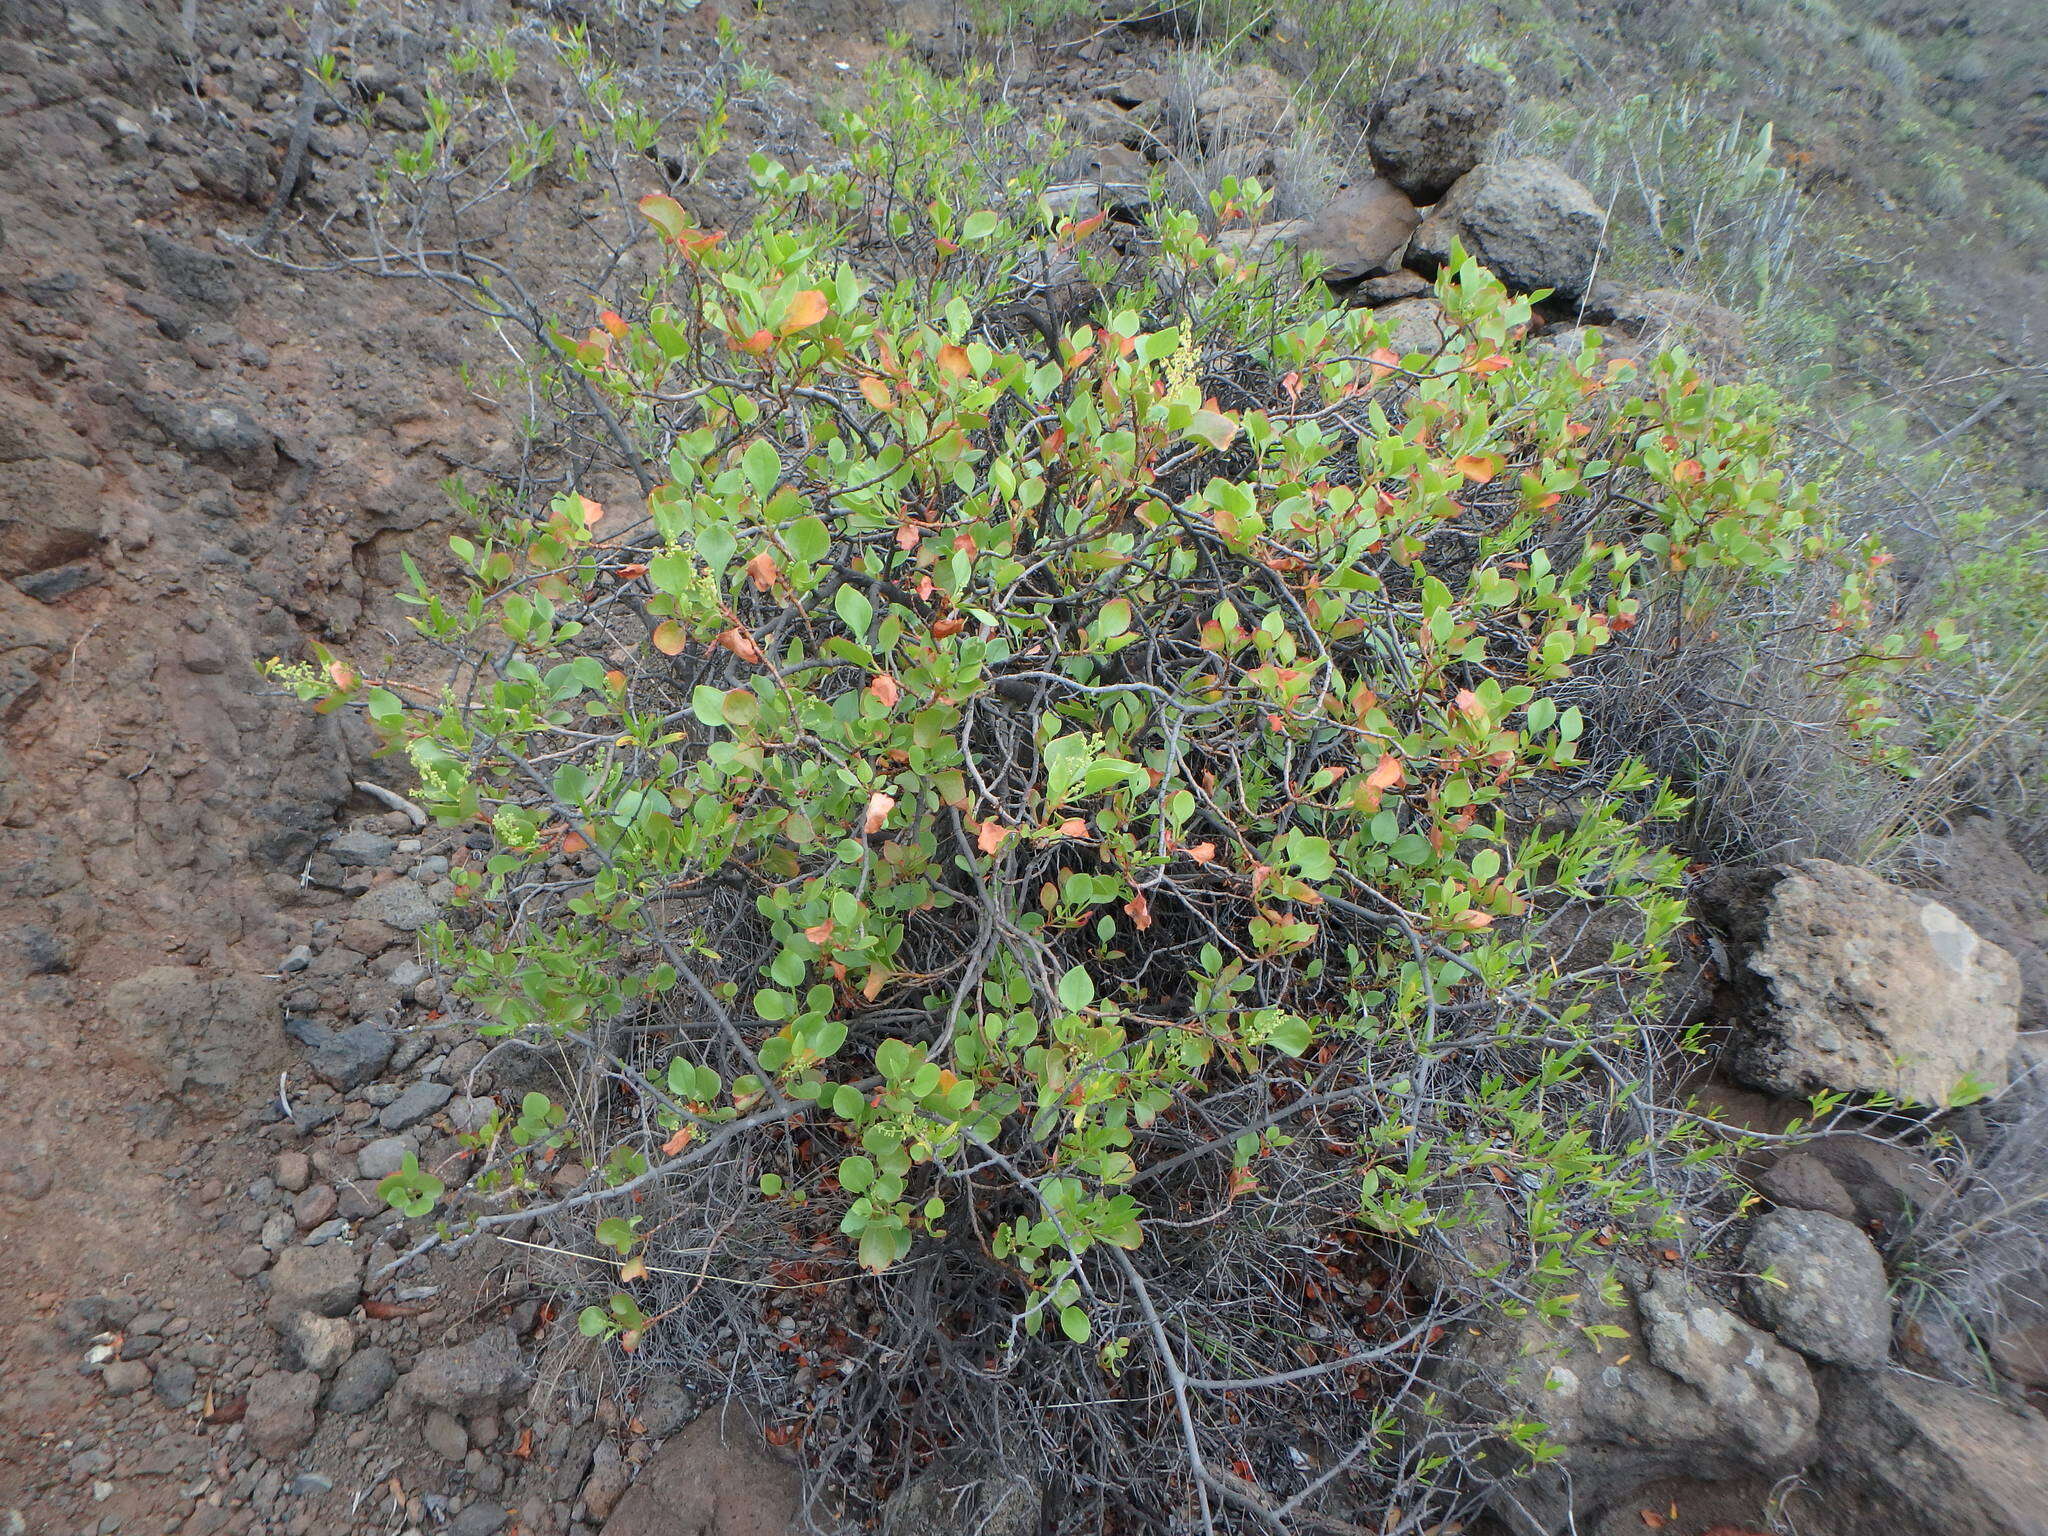
<svg viewBox="0 0 2048 1536"><path fill-rule="evenodd" d="M797 1468L768 1454L760 1425L707 1413L647 1458L604 1536L786 1536L797 1493Z"/></svg>

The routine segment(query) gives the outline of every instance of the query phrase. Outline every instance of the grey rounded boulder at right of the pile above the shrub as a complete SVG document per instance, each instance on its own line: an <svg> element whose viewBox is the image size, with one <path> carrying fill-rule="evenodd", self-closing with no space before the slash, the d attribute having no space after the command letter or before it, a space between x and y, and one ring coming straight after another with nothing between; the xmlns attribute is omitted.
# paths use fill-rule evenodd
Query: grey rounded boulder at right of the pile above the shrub
<svg viewBox="0 0 2048 1536"><path fill-rule="evenodd" d="M1409 266L1438 272L1452 242L1516 293L1585 293L1608 219L1579 182L1550 160L1501 160L1464 176L1409 242Z"/></svg>

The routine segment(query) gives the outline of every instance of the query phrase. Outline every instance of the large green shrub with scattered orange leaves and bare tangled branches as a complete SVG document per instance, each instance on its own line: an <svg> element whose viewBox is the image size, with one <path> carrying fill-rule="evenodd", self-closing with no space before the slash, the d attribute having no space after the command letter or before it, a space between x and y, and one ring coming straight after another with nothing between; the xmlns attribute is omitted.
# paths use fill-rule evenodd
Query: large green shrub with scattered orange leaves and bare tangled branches
<svg viewBox="0 0 2048 1536"><path fill-rule="evenodd" d="M590 1069L422 1247L551 1221L614 1276L588 1335L856 1503L973 1448L1063 1530L1419 1528L1538 1448L1432 1395L1460 1329L1563 1317L1712 1182L1659 1098L1681 803L1602 670L1837 541L1681 352L1530 346L1458 262L1397 354L1192 211L1087 289L1100 219L918 131L756 162L745 236L641 201L659 274L553 391L645 498L475 502L408 594L449 682L309 688L494 834L438 936L477 1028Z"/></svg>

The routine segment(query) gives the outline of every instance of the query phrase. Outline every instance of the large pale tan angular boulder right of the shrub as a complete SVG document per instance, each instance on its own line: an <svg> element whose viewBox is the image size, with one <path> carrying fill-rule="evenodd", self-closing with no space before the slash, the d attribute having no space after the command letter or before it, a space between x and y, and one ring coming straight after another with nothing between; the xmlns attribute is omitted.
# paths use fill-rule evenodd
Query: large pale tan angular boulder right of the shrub
<svg viewBox="0 0 2048 1536"><path fill-rule="evenodd" d="M1913 1104L2005 1085L2019 969L1939 901L1825 858L1724 870L1700 895L1729 940L1731 1077Z"/></svg>

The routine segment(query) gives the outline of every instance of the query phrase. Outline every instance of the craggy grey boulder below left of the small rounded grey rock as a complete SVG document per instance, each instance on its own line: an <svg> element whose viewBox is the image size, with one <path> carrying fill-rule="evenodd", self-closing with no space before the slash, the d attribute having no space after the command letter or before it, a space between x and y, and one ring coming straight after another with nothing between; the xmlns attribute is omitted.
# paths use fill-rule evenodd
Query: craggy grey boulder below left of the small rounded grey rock
<svg viewBox="0 0 2048 1536"><path fill-rule="evenodd" d="M1792 1350L1677 1274L1632 1280L1632 1298L1614 1290L1587 1274L1567 1317L1489 1327L1446 1370L1450 1397L1536 1419L1565 1452L1528 1466L1503 1440L1485 1456L1522 1473L1495 1499L1518 1536L1585 1528L1655 1479L1788 1473L1812 1446L1821 1403Z"/></svg>

